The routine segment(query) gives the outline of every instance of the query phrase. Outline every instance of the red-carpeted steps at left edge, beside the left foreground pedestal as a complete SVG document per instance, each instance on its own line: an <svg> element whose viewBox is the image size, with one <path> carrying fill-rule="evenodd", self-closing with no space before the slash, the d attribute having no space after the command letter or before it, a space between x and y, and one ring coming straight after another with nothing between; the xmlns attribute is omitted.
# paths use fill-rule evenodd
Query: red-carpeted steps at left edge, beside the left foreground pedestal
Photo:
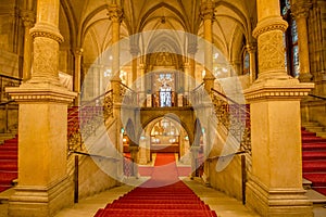
<svg viewBox="0 0 326 217"><path fill-rule="evenodd" d="M0 192L10 189L17 178L17 138L14 138L0 144Z"/></svg>

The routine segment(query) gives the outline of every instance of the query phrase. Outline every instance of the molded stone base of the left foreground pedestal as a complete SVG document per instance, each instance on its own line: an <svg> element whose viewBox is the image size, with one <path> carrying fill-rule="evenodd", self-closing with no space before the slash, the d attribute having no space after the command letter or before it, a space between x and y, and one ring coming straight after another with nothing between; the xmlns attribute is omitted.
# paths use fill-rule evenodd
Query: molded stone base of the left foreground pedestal
<svg viewBox="0 0 326 217"><path fill-rule="evenodd" d="M47 187L17 186L9 200L9 216L49 217L74 204L73 182L67 177Z"/></svg>

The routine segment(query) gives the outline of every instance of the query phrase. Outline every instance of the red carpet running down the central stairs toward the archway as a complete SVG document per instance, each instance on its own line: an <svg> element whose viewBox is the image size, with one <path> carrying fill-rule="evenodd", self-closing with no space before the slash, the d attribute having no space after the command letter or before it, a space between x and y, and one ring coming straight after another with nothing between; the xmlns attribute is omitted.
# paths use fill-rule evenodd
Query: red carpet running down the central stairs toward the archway
<svg viewBox="0 0 326 217"><path fill-rule="evenodd" d="M99 209L96 217L217 216L178 179L174 154L158 153L150 180Z"/></svg>

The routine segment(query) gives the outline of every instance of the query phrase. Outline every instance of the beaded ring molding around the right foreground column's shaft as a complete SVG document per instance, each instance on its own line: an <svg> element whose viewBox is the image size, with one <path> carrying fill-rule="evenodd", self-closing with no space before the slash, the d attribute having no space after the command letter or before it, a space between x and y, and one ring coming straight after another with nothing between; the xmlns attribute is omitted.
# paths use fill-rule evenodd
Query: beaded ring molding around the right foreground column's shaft
<svg viewBox="0 0 326 217"><path fill-rule="evenodd" d="M269 16L258 23L256 27L252 31L252 36L258 38L262 34L273 30L281 30L284 33L287 28L288 23L280 16Z"/></svg>

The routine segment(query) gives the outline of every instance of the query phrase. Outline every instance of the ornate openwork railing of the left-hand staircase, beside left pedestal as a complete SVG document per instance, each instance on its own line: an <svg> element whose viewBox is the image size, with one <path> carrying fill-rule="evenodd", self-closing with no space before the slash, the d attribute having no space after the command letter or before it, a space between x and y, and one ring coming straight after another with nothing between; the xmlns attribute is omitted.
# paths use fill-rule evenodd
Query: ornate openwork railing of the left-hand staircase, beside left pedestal
<svg viewBox="0 0 326 217"><path fill-rule="evenodd" d="M84 140L96 133L97 128L113 116L112 90L68 112L68 153L84 151Z"/></svg>

